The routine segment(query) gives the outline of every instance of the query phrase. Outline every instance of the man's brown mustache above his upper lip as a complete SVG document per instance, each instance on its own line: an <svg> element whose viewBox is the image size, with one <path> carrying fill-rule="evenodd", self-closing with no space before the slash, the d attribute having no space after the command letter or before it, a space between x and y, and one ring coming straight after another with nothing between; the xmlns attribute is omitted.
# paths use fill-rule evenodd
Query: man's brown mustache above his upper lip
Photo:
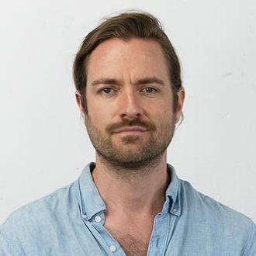
<svg viewBox="0 0 256 256"><path fill-rule="evenodd" d="M106 126L106 131L108 133L113 133L115 132L115 130L123 127L127 127L127 126L140 126L140 127L146 128L147 130L152 130L152 131L156 130L156 126L154 125L154 123L142 121L140 119L133 119L133 120L124 119L121 123L109 124L108 126Z"/></svg>

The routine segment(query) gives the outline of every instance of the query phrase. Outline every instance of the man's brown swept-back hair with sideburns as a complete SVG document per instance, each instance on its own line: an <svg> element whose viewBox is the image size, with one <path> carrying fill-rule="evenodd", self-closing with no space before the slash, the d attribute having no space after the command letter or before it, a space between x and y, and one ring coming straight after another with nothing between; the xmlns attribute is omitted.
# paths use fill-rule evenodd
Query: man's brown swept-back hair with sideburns
<svg viewBox="0 0 256 256"><path fill-rule="evenodd" d="M178 57L168 36L164 33L161 23L146 12L125 12L119 16L106 19L85 37L78 54L74 59L73 77L75 88L81 94L81 103L86 111L85 87L87 81L86 66L88 57L100 43L111 38L130 40L156 40L160 43L168 63L171 89L174 95L174 111L178 104L178 90L182 86L181 67Z"/></svg>

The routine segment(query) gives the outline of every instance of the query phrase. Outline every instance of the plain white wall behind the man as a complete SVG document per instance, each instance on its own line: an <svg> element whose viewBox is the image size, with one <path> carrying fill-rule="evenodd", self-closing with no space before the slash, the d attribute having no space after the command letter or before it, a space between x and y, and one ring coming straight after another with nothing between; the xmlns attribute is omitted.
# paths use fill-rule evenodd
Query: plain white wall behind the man
<svg viewBox="0 0 256 256"><path fill-rule="evenodd" d="M126 9L157 16L182 61L185 121L168 161L179 178L255 222L254 0L11 0L0 7L0 223L95 159L71 66L86 33Z"/></svg>

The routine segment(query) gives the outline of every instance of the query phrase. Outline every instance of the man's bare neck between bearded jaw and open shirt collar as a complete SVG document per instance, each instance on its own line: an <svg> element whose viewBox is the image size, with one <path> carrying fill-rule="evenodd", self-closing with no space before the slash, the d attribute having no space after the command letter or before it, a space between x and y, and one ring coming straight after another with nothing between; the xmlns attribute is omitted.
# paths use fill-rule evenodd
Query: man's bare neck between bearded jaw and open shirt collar
<svg viewBox="0 0 256 256"><path fill-rule="evenodd" d="M154 216L161 212L170 181L166 164L165 152L157 164L150 167L113 171L115 167L96 155L92 177L108 212L119 211L126 216L138 213L140 216ZM133 175L118 175L118 172Z"/></svg>

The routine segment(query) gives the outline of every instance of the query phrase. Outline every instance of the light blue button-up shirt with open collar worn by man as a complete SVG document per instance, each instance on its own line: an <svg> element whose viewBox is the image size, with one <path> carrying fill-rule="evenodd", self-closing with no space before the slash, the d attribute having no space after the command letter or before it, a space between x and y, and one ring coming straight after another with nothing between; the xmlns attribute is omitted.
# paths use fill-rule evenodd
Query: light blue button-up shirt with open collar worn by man
<svg viewBox="0 0 256 256"><path fill-rule="evenodd" d="M104 227L106 206L92 180L94 166L12 213L0 228L0 255L124 256ZM171 183L154 218L147 256L256 255L256 227L249 218L197 192L169 164L168 171Z"/></svg>

